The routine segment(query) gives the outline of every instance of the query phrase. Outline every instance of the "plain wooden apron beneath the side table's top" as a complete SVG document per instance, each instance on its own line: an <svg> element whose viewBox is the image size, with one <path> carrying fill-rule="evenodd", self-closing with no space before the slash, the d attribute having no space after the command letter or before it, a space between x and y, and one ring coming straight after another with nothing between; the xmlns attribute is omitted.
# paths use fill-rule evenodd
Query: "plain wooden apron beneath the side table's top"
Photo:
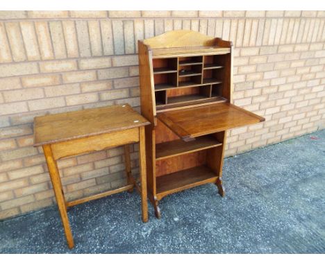
<svg viewBox="0 0 325 265"><path fill-rule="evenodd" d="M72 155L81 155L124 144L132 144L139 142L139 139L139 128L131 128L51 144L51 150L54 159L58 160Z"/></svg>

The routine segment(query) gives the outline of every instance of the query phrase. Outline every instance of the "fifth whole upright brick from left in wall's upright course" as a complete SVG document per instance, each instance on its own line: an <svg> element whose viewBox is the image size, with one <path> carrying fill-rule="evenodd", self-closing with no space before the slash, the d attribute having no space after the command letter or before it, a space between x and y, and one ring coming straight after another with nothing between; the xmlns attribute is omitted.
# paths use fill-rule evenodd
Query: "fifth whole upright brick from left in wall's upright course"
<svg viewBox="0 0 325 265"><path fill-rule="evenodd" d="M76 58L79 55L79 49L75 24L73 21L63 21L62 26L65 46L67 47L67 57Z"/></svg>

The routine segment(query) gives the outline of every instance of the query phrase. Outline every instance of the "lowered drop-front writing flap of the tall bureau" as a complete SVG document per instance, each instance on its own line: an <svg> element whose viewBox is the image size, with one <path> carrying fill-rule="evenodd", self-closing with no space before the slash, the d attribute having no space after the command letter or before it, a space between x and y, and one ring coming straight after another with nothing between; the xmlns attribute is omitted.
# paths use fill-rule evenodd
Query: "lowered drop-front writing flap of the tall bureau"
<svg viewBox="0 0 325 265"><path fill-rule="evenodd" d="M157 117L184 141L265 120L231 103L160 112Z"/></svg>

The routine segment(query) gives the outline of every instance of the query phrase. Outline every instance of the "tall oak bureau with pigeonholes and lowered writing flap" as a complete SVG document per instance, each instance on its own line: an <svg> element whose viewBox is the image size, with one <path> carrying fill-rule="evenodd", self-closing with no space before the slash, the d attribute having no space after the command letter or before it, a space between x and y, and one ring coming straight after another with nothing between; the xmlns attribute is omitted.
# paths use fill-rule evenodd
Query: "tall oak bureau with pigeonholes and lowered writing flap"
<svg viewBox="0 0 325 265"><path fill-rule="evenodd" d="M168 194L214 183L224 196L226 130L264 118L231 105L232 42L169 31L139 44L142 114L154 121L146 129L148 197L160 218Z"/></svg>

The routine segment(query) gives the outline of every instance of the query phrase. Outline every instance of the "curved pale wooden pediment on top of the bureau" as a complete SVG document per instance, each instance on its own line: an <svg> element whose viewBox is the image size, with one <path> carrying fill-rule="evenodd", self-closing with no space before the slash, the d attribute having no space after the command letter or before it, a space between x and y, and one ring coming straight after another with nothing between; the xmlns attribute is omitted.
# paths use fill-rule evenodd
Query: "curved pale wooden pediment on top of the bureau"
<svg viewBox="0 0 325 265"><path fill-rule="evenodd" d="M184 46L213 46L215 37L203 35L197 31L167 31L143 41L151 49L178 48Z"/></svg>

